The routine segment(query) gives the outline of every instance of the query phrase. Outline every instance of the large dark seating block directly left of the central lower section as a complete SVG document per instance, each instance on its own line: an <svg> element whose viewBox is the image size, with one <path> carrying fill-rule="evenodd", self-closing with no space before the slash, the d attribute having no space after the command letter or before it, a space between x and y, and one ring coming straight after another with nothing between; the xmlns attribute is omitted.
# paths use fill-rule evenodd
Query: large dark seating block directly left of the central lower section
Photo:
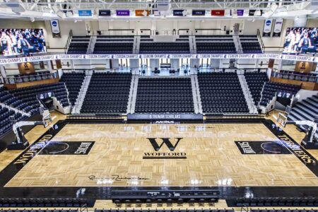
<svg viewBox="0 0 318 212"><path fill-rule="evenodd" d="M81 113L125 113L131 73L93 73Z"/></svg>

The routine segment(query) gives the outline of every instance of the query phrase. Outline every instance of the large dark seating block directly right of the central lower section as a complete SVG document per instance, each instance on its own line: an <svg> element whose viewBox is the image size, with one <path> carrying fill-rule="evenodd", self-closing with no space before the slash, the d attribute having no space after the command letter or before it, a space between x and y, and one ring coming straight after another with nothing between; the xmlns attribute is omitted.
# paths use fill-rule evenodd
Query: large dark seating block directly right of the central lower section
<svg viewBox="0 0 318 212"><path fill-rule="evenodd" d="M198 81L204 113L249 112L236 73L199 73Z"/></svg>

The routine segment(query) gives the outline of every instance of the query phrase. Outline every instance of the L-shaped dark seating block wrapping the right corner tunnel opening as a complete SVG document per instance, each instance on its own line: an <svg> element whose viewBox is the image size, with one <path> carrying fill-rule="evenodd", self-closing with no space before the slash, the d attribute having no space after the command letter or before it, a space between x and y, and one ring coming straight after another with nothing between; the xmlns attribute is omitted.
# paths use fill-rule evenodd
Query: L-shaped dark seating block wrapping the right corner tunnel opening
<svg viewBox="0 0 318 212"><path fill-rule="evenodd" d="M278 91L283 91L285 93L295 94L300 90L300 86L284 84L284 83L265 83L263 92L261 93L260 105L266 106L275 96L275 93Z"/></svg>

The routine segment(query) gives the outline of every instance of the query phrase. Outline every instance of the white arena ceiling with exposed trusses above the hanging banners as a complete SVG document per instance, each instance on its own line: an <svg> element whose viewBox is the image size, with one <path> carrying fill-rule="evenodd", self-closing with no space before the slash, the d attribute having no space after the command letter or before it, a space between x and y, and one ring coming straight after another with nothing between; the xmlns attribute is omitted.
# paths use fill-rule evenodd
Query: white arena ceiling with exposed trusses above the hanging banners
<svg viewBox="0 0 318 212"><path fill-rule="evenodd" d="M92 10L98 13L100 9L144 9L155 10L158 5L167 6L167 11L173 9L255 9L275 11L271 16L294 18L295 16L317 17L318 0L0 0L0 18L63 18L58 13L78 10ZM19 16L17 16L17 14ZM70 17L64 17L70 18ZM211 18L211 17L209 17Z"/></svg>

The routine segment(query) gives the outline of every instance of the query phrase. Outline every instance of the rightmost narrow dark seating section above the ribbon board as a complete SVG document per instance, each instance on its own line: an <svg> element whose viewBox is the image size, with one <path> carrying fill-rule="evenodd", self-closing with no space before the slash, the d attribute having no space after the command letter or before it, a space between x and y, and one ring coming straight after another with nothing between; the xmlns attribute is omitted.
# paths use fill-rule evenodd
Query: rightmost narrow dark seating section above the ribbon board
<svg viewBox="0 0 318 212"><path fill-rule="evenodd" d="M246 54L261 54L261 45L255 35L240 35L240 43L242 45L243 53Z"/></svg>

